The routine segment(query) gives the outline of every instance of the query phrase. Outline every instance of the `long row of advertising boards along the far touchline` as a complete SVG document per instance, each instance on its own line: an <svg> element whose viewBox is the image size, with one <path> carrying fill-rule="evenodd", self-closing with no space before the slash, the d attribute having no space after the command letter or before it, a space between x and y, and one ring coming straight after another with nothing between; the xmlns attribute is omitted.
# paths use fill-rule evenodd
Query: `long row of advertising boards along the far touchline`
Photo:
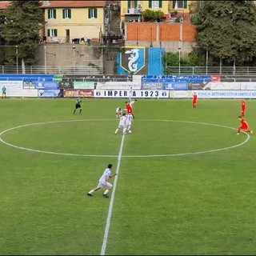
<svg viewBox="0 0 256 256"><path fill-rule="evenodd" d="M256 82L222 82L219 75L2 74L6 97L256 98Z"/></svg>

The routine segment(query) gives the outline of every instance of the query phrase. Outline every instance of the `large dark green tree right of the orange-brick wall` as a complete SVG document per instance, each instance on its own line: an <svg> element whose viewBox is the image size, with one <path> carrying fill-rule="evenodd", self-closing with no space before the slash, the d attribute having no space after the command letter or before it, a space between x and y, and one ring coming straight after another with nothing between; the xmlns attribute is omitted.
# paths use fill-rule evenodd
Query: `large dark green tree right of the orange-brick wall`
<svg viewBox="0 0 256 256"><path fill-rule="evenodd" d="M200 1L197 44L223 63L248 65L256 56L256 6L250 1Z"/></svg>

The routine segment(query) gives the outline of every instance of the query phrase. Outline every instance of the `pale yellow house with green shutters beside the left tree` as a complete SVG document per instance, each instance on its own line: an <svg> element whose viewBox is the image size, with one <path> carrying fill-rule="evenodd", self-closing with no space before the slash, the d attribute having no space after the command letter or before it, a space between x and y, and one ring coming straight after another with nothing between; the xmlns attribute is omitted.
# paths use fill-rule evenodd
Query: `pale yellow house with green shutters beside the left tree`
<svg viewBox="0 0 256 256"><path fill-rule="evenodd" d="M99 42L105 33L106 1L42 1L46 42Z"/></svg>

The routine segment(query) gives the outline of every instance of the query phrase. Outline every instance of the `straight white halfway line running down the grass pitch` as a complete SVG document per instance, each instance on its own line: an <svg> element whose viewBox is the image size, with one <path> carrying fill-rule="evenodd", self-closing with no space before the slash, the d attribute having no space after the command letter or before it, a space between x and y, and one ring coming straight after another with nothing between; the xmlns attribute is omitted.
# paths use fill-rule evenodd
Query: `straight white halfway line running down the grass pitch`
<svg viewBox="0 0 256 256"><path fill-rule="evenodd" d="M119 173L119 169L120 169L120 163L121 163L121 158L122 158L122 148L123 148L123 143L125 141L125 134L122 134L122 141L121 141L121 146L120 146L120 150L119 150L119 154L118 154L118 165L117 165L117 170L116 173ZM116 175L114 177L114 186L113 186L113 191L112 191L112 195L110 198L110 207L109 207L109 211L107 214L107 218L106 218L106 227L105 227L105 233L104 233L104 238L103 238L103 242L102 242L102 250L101 250L101 255L105 255L105 251L106 251L106 243L107 243L107 238L109 235L109 230L110 230L110 220L111 220L111 215L112 215L112 210L113 210L113 205L114 205L114 193L115 193L115 189L117 186L117 182L118 182L118 175Z"/></svg>

